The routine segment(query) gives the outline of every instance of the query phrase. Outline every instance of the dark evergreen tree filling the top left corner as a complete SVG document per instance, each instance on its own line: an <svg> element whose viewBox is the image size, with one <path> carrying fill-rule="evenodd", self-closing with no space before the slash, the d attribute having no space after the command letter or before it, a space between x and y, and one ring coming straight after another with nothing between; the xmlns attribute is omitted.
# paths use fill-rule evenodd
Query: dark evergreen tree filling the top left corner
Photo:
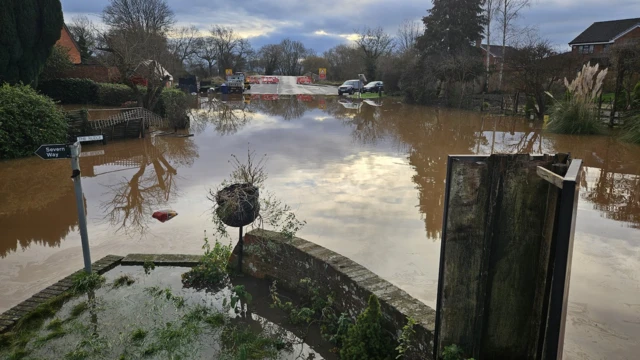
<svg viewBox="0 0 640 360"><path fill-rule="evenodd" d="M3 0L0 83L36 85L63 22L60 0Z"/></svg>

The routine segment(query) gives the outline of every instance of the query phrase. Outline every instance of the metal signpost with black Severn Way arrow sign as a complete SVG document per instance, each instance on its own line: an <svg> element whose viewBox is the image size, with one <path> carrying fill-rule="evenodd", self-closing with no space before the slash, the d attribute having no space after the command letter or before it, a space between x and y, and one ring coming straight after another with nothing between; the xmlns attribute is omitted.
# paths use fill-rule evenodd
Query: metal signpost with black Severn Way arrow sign
<svg viewBox="0 0 640 360"><path fill-rule="evenodd" d="M102 135L99 135L102 137ZM102 140L102 139L98 139ZM91 140L93 141L93 140ZM82 256L84 258L84 270L91 273L91 253L89 251L89 235L87 233L87 217L85 215L84 201L82 196L82 181L80 177L80 141L75 144L48 144L40 145L36 150L36 155L44 160L59 160L71 158L71 178L74 183L76 194L76 208L78 210L78 227L80 228L80 239L82 241Z"/></svg>

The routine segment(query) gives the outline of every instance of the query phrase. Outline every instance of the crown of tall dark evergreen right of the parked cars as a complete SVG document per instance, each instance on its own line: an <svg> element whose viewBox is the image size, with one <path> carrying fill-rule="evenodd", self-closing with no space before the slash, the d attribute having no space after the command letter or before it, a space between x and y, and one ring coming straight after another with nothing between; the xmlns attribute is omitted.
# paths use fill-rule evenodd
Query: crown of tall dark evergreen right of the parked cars
<svg viewBox="0 0 640 360"><path fill-rule="evenodd" d="M418 46L429 53L456 54L482 39L486 16L484 0L433 0L422 21L424 35Z"/></svg>

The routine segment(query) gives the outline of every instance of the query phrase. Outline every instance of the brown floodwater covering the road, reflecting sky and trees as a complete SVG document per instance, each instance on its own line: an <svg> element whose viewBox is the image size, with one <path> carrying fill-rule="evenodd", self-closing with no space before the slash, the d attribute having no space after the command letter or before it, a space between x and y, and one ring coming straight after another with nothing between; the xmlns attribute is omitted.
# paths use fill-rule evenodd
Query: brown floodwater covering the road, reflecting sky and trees
<svg viewBox="0 0 640 360"><path fill-rule="evenodd" d="M194 104L198 105L198 104ZM86 145L94 260L201 253L210 188L231 154L268 154L265 187L307 221L298 236L435 306L448 154L571 152L584 160L565 352L640 352L640 146L560 136L519 118L392 100L253 95L193 110L194 137ZM0 162L0 311L82 267L68 161ZM151 214L174 209L159 223Z"/></svg>

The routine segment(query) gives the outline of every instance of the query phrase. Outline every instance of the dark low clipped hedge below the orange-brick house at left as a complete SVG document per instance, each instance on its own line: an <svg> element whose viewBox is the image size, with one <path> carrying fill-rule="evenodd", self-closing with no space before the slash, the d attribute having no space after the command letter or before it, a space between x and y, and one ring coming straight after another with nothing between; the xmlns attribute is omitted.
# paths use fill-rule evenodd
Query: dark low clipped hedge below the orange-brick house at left
<svg viewBox="0 0 640 360"><path fill-rule="evenodd" d="M98 99L98 84L90 79L42 81L38 90L63 104L95 104Z"/></svg>

